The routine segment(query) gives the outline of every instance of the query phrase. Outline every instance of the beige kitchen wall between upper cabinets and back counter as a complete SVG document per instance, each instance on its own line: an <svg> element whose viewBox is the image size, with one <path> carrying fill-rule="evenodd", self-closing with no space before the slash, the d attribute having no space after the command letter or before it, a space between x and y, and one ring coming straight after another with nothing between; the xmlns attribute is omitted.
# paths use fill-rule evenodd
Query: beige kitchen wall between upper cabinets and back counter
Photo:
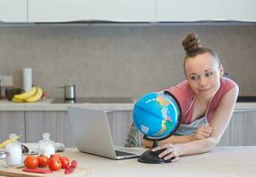
<svg viewBox="0 0 256 177"><path fill-rule="evenodd" d="M180 41L195 31L219 54L240 95L256 95L255 26L0 27L0 74L21 87L22 68L49 96L140 96L184 79Z"/></svg>

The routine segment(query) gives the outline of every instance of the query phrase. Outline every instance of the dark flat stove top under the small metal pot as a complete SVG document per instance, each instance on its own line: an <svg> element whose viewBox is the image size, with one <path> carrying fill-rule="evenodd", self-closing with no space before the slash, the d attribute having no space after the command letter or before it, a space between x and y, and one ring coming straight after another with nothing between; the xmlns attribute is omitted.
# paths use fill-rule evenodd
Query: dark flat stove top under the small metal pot
<svg viewBox="0 0 256 177"><path fill-rule="evenodd" d="M76 97L76 100L65 100L62 97L57 97L52 101L52 104L132 104L131 97Z"/></svg>

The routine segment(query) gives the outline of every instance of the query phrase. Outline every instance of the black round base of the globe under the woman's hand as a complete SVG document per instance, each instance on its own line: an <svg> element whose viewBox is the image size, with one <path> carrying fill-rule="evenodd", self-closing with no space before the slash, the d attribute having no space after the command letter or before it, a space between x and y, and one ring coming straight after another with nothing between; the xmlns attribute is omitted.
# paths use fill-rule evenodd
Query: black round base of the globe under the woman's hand
<svg viewBox="0 0 256 177"><path fill-rule="evenodd" d="M141 154L138 161L141 163L148 164L164 164L164 163L172 163L172 158L168 160L164 160L164 158L159 158L158 155L164 150L151 151L147 150L143 154Z"/></svg>

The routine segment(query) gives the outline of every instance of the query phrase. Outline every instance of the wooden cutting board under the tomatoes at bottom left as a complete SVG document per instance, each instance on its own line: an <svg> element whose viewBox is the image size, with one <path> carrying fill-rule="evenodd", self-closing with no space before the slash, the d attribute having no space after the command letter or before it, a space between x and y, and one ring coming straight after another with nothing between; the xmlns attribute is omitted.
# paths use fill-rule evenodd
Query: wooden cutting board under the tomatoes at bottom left
<svg viewBox="0 0 256 177"><path fill-rule="evenodd" d="M57 177L57 176L85 176L91 174L91 169L86 167L76 167L73 173L64 174L64 169L60 169L59 171L55 171L53 173L28 173L23 172L21 168L10 168L10 167L1 167L0 168L0 175L5 176L13 176L13 177Z"/></svg>

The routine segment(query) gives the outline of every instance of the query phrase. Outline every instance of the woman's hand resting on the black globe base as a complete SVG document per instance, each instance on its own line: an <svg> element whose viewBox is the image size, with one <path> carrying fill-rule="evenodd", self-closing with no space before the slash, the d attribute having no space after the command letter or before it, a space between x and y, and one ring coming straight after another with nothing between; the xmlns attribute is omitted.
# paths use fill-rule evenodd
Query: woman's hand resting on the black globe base
<svg viewBox="0 0 256 177"><path fill-rule="evenodd" d="M174 145L172 145L172 143L165 143L152 149L152 151L157 150L164 150L158 155L159 158L164 158L164 160L169 160L172 158L172 162L179 160L178 149Z"/></svg>

